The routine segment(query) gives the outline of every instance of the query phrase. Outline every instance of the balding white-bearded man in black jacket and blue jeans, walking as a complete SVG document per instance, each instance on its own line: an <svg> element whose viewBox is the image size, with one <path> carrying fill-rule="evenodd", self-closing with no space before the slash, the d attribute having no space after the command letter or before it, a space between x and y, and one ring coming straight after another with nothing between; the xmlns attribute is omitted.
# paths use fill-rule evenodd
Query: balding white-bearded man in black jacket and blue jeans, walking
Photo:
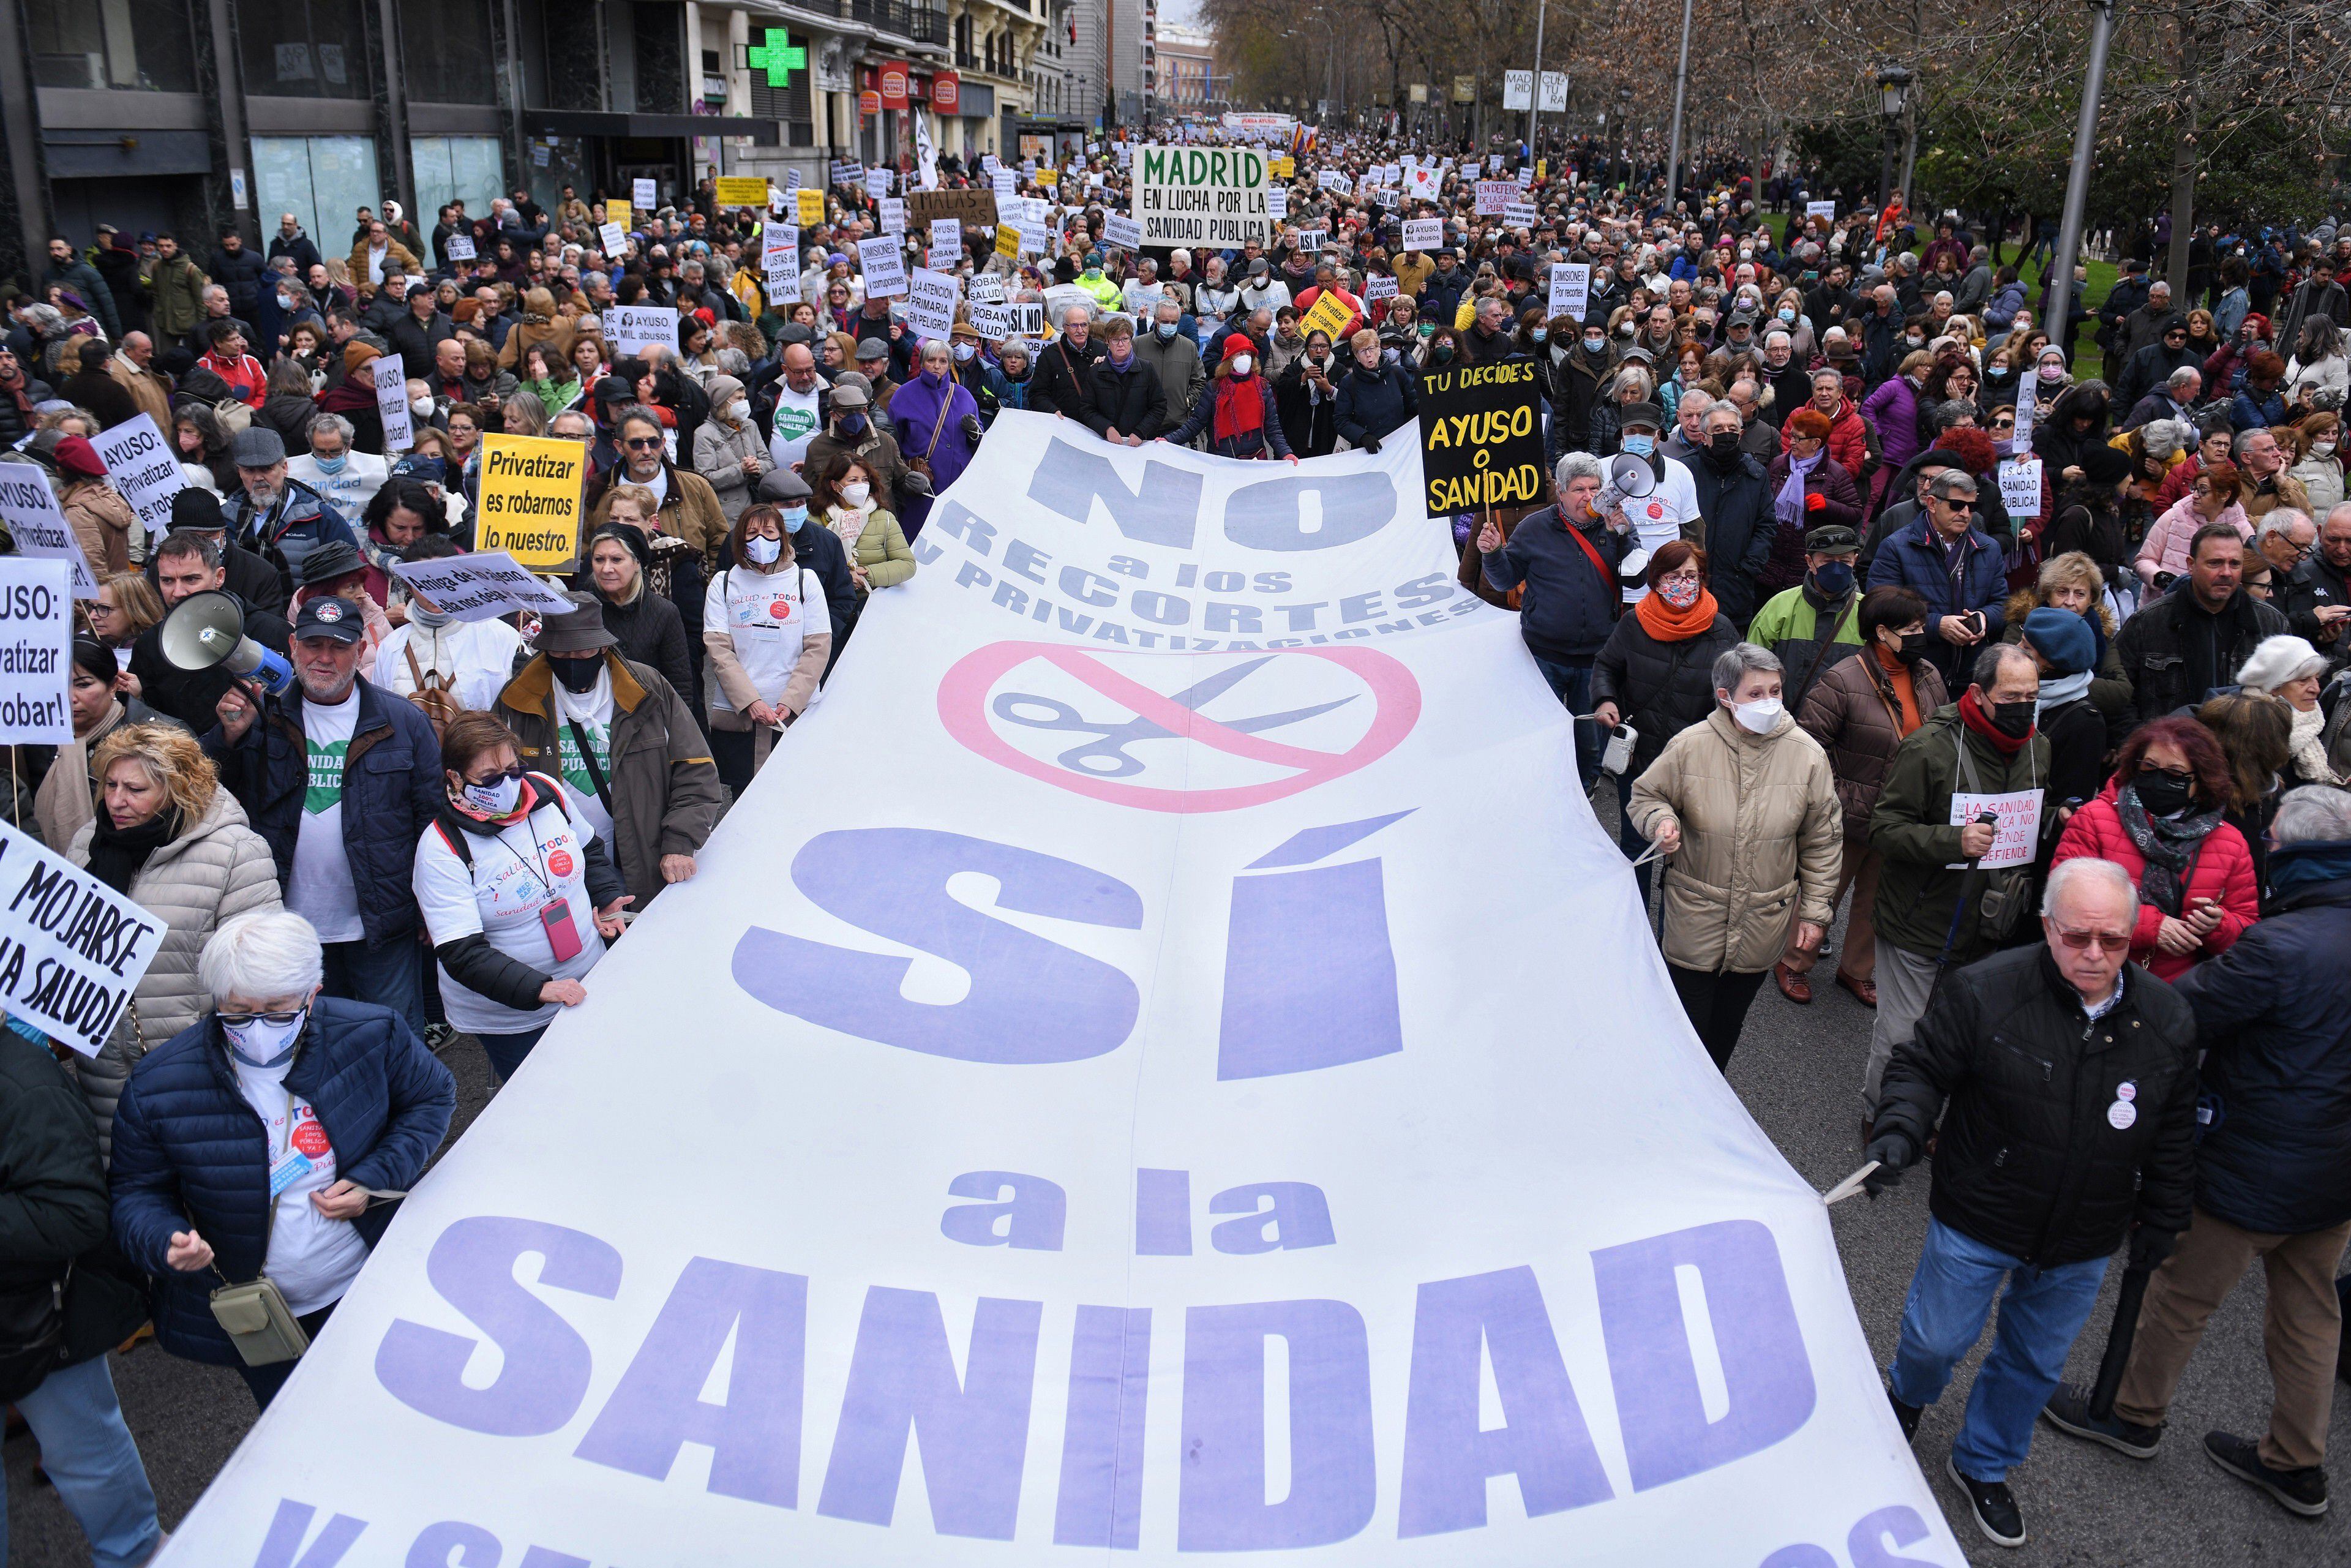
<svg viewBox="0 0 2351 1568"><path fill-rule="evenodd" d="M1918 1432L2001 1298L1947 1469L2003 1547L2024 1542L2008 1472L2031 1448L2109 1255L2130 1237L2130 1267L2154 1267L2189 1225L2196 1016L2146 971L2125 976L2137 914L2123 867L2059 865L2041 943L1944 978L1886 1070L1869 1143L1876 1192L1940 1138L1933 1218L1888 1368L1902 1436Z"/></svg>

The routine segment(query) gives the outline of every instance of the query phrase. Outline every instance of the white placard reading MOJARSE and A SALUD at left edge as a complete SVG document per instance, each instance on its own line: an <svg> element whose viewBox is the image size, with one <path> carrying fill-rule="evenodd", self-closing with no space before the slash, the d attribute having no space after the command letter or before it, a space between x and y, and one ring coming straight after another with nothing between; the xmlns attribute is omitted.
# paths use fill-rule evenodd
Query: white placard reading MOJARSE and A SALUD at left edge
<svg viewBox="0 0 2351 1568"><path fill-rule="evenodd" d="M167 929L160 914L0 823L0 1011L9 1018L96 1056Z"/></svg>

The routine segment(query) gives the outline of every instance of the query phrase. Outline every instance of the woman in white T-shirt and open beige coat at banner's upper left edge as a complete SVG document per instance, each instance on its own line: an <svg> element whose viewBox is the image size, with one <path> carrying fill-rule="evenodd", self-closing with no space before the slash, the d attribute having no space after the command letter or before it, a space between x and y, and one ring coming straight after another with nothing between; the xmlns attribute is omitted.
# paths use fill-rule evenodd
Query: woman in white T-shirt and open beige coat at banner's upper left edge
<svg viewBox="0 0 2351 1568"><path fill-rule="evenodd" d="M818 696L832 611L825 585L795 559L781 510L764 501L743 508L726 538L734 564L710 578L703 602L703 689L712 762L741 797L776 736Z"/></svg>

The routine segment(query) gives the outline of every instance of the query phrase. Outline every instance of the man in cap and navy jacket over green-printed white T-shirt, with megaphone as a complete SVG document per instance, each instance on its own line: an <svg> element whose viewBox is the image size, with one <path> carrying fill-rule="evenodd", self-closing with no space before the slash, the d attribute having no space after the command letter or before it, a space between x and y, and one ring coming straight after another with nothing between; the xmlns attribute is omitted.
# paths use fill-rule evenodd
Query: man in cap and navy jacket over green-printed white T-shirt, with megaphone
<svg viewBox="0 0 2351 1568"><path fill-rule="evenodd" d="M205 752L277 858L287 907L327 945L327 994L426 1032L416 839L444 795L440 741L409 701L360 679L367 628L336 597L294 618L294 689L233 686Z"/></svg>

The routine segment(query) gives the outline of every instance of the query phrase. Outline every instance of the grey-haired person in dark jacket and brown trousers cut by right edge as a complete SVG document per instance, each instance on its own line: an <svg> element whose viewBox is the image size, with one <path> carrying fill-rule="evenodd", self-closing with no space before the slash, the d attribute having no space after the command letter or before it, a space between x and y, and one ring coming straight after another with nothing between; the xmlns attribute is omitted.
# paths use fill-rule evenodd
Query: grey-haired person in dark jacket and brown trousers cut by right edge
<svg viewBox="0 0 2351 1568"><path fill-rule="evenodd" d="M2064 1387L2050 1425L2137 1460L2156 1458L2179 1373L2205 1324L2262 1262L2269 1284L2269 1434L2212 1432L2203 1446L2229 1474L2313 1519L2327 1507L2327 1418L2342 1305L2335 1267L2351 1241L2351 795L2295 790L2269 851L2271 907L2226 952L2177 980L2196 1011L2203 1098L2196 1222L2139 1307L2139 1338L2114 1399Z"/></svg>

